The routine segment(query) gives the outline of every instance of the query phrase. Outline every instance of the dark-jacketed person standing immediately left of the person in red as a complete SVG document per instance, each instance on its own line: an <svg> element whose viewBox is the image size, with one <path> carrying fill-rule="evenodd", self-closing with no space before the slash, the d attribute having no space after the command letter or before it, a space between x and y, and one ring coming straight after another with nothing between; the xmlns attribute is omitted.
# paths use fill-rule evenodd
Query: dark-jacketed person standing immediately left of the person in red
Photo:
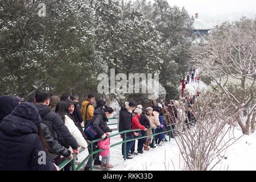
<svg viewBox="0 0 256 182"><path fill-rule="evenodd" d="M121 105L121 110L120 110L119 117L118 117L118 119L119 119L118 130L119 130L119 132L122 132L122 131L125 131L125 130L131 130L132 113L133 113L133 110L135 109L136 106L137 105L134 101L125 102L125 104ZM126 133L126 139L132 139L133 135L134 135L134 132ZM121 135L121 137L123 138L123 140L125 140L123 134ZM131 147L133 147L133 143L134 143L134 141L130 141L130 142L126 143L126 156L125 156L125 152L124 152L125 144L122 143L123 158L133 159L128 155L129 151L131 150Z"/></svg>

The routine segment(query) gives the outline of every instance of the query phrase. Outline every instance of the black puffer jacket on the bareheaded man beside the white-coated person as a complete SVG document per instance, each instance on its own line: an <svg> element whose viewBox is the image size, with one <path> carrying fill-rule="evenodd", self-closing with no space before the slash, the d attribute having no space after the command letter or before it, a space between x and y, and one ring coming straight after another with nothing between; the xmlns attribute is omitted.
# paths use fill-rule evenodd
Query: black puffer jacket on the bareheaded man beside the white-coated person
<svg viewBox="0 0 256 182"><path fill-rule="evenodd" d="M58 140L58 142L66 148L69 148L69 146L73 149L79 147L76 139L69 133L67 126L64 125L59 114L53 113L51 108L47 105L40 104L36 105L36 107L38 107L42 123L49 127L50 134L53 138Z"/></svg>

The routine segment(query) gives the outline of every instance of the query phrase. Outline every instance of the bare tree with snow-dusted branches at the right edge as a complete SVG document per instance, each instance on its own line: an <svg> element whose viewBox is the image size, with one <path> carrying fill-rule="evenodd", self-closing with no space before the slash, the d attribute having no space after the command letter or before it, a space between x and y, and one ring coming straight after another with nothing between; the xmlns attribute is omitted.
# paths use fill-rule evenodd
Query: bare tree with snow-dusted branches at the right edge
<svg viewBox="0 0 256 182"><path fill-rule="evenodd" d="M256 100L256 19L241 18L233 23L223 23L207 38L191 50L193 62L204 75L210 76L230 98L232 113L237 113L243 134L254 132ZM236 94L227 84L230 78L240 82ZM246 86L250 82L249 86ZM246 96L249 94L249 97Z"/></svg>

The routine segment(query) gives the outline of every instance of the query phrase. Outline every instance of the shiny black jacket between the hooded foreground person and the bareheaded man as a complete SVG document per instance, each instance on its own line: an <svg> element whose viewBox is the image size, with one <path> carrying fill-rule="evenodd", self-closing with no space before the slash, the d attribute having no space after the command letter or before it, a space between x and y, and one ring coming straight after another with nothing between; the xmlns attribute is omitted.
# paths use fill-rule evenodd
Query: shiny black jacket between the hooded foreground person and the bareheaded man
<svg viewBox="0 0 256 182"><path fill-rule="evenodd" d="M40 125L44 133L44 137L46 137L46 142L51 149L51 151L49 151L50 154L48 154L49 159L55 159L58 155L63 155L64 157L71 155L71 151L69 151L68 148L61 146L61 144L51 136L48 126L43 123Z"/></svg>

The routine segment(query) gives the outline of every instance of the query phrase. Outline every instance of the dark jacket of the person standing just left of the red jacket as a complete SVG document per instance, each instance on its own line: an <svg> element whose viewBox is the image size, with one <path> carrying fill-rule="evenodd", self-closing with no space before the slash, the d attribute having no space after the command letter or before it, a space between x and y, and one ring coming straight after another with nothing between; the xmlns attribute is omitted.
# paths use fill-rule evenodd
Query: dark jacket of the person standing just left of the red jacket
<svg viewBox="0 0 256 182"><path fill-rule="evenodd" d="M121 105L121 110L119 113L119 132L125 130L131 130L131 118L133 111L129 107L129 102L125 102L125 104ZM134 132L129 132L126 135L131 136Z"/></svg>

